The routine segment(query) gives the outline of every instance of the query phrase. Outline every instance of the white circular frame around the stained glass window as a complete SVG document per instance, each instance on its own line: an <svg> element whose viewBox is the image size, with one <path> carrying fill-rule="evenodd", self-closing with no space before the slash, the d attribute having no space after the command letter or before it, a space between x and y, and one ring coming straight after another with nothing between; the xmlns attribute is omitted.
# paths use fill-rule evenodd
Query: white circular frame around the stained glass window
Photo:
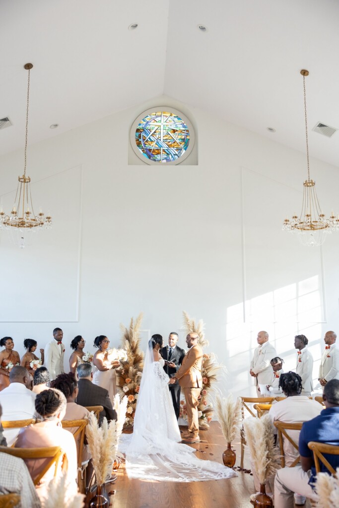
<svg viewBox="0 0 339 508"><path fill-rule="evenodd" d="M174 115L181 118L181 120L184 123L186 123L186 125L189 128L190 142L189 142L188 149L183 153L183 155L181 155L180 157L175 159L175 161L166 162L166 163L158 162L158 161L151 161L148 157L146 157L145 155L142 154L142 152L139 150L139 148L137 147L137 144L135 142L135 133L136 133L136 130L137 130L137 127L138 127L140 121L143 120L145 118L145 116L151 115L152 113L156 113L157 111L168 111L169 113L173 113ZM183 163L187 159L187 157L192 153L192 150L195 145L195 132L194 132L192 122L189 120L189 118L184 113L182 113L178 109L172 108L170 106L156 106L154 108L146 109L140 115L138 115L137 118L134 120L134 122L132 123L131 129L130 129L130 143L131 143L134 153L137 155L137 157L140 159L140 161L142 161L144 164L147 164L148 166L161 166L161 167L163 167L163 166L165 166L165 167L166 166L178 166L179 164Z"/></svg>

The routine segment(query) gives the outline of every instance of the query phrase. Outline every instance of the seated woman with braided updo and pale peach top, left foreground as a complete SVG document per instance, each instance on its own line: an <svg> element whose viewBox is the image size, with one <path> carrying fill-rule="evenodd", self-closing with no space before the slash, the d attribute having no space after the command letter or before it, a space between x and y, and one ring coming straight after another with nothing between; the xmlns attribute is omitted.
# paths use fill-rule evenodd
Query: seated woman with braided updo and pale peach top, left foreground
<svg viewBox="0 0 339 508"><path fill-rule="evenodd" d="M59 390L50 388L38 393L36 411L42 421L20 430L15 448L61 447L67 454L67 481L75 485L77 479L77 449L73 435L59 426L66 413L66 398ZM32 478L35 478L45 467L48 459L25 459ZM58 466L57 477L61 476L61 464ZM37 486L40 499L46 493L46 486L54 476L54 465L48 469ZM72 485L72 487L73 487Z"/></svg>

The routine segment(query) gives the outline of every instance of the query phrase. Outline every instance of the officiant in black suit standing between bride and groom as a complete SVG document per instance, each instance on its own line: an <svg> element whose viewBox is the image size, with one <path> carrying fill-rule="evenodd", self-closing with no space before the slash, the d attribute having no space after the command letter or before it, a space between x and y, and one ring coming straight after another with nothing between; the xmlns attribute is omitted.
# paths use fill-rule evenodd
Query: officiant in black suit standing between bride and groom
<svg viewBox="0 0 339 508"><path fill-rule="evenodd" d="M176 345L177 341L178 334L171 332L168 337L168 346L163 347L161 350L161 356L165 360L164 371L169 377L175 376L186 354L181 347ZM175 416L176 419L178 419L180 410L180 386L178 381L176 381L176 383L168 385L168 387L172 396Z"/></svg>

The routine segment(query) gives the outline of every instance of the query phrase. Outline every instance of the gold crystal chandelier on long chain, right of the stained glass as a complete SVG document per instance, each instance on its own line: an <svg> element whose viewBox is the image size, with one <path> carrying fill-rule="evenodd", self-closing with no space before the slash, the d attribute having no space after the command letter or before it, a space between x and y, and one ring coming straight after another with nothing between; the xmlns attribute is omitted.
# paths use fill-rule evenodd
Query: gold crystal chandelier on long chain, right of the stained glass
<svg viewBox="0 0 339 508"><path fill-rule="evenodd" d="M332 231L339 229L339 215L335 217L331 212L329 218L325 217L317 197L316 182L310 179L310 160L309 160L309 138L307 135L307 114L306 114L306 88L305 76L309 71L302 69L300 74L303 76L304 89L304 110L305 110L305 132L306 132L306 154L307 154L307 180L303 182L303 197L301 213L299 217L293 215L289 220L284 220L283 231L297 233L299 240L304 245L321 245L326 236Z"/></svg>

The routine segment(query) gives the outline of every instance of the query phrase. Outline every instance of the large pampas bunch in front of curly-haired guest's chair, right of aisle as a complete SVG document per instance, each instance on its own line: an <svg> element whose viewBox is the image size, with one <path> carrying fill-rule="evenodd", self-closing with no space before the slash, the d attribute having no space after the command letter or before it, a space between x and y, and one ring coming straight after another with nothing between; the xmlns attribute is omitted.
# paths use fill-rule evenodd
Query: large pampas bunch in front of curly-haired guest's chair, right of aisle
<svg viewBox="0 0 339 508"><path fill-rule="evenodd" d="M261 484L275 474L280 467L280 454L274 446L274 432L271 417L247 418L243 422L246 442L250 449L253 469L258 475Z"/></svg>

